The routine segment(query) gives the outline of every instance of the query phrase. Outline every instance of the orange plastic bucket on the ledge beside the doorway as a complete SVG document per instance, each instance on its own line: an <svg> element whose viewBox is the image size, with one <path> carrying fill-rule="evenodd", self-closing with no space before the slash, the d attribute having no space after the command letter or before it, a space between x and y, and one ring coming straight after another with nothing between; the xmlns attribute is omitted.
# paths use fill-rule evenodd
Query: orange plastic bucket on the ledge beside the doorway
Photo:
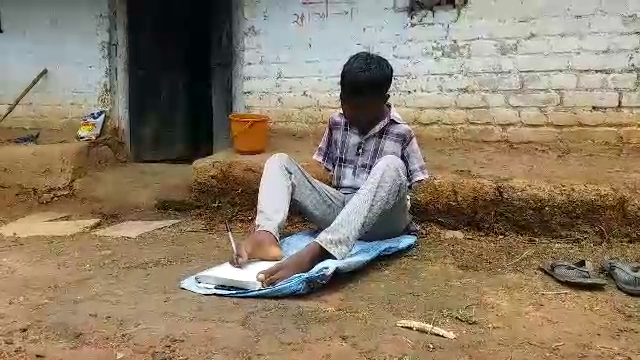
<svg viewBox="0 0 640 360"><path fill-rule="evenodd" d="M260 114L231 114L233 149L244 155L260 154L269 142L269 117Z"/></svg>

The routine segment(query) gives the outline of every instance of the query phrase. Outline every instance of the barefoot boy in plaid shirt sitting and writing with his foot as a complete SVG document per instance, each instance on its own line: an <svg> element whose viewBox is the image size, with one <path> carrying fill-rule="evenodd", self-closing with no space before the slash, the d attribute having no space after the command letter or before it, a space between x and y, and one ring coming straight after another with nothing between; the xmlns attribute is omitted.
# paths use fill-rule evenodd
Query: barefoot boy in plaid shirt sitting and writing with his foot
<svg viewBox="0 0 640 360"><path fill-rule="evenodd" d="M280 230L291 201L322 229L314 242L258 275L264 286L342 259L358 239L402 235L411 224L408 192L428 174L411 128L388 105L393 68L367 52L349 58L340 75L342 112L331 116L313 158L331 173L332 186L313 179L285 154L264 166L256 230L231 260L280 260Z"/></svg>

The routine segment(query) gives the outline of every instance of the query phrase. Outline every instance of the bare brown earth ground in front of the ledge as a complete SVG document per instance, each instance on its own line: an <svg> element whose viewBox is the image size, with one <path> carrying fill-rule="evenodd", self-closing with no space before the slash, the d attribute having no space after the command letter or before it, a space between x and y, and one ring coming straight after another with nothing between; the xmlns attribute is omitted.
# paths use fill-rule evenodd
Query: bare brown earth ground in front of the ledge
<svg viewBox="0 0 640 360"><path fill-rule="evenodd" d="M640 259L637 245L459 240L430 227L409 253L316 295L232 300L178 288L227 258L218 226L144 211L105 223L166 217L188 220L137 239L0 239L0 359L640 359L637 299L536 270L549 258ZM394 327L400 319L458 339Z"/></svg>

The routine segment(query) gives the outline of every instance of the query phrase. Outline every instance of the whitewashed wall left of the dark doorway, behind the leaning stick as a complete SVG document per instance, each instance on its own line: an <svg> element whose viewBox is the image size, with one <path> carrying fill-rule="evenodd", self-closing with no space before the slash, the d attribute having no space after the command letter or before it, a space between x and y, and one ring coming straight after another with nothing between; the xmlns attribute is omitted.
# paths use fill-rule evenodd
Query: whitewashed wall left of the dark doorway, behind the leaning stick
<svg viewBox="0 0 640 360"><path fill-rule="evenodd" d="M107 0L2 0L0 14L0 111L49 69L3 126L56 126L109 104Z"/></svg>

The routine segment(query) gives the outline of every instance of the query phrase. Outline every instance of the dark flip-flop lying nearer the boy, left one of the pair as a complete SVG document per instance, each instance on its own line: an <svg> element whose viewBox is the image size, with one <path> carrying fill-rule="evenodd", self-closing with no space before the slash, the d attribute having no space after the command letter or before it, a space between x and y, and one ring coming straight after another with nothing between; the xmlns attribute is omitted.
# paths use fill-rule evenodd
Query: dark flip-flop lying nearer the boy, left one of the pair
<svg viewBox="0 0 640 360"><path fill-rule="evenodd" d="M588 260L580 260L571 264L566 261L551 261L540 267L561 283L582 287L603 287L605 279L595 275L593 266Z"/></svg>

